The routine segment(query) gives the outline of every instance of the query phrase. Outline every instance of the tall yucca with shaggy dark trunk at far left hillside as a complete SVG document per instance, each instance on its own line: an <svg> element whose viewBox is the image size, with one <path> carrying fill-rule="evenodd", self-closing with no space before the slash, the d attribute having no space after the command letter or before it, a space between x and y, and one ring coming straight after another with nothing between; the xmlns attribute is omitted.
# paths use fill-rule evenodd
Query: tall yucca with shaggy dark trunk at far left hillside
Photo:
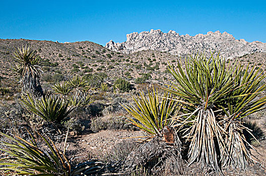
<svg viewBox="0 0 266 176"><path fill-rule="evenodd" d="M36 50L30 47L18 48L14 51L15 70L20 75L22 91L42 96L43 91L40 85L40 66L42 58L37 54Z"/></svg>

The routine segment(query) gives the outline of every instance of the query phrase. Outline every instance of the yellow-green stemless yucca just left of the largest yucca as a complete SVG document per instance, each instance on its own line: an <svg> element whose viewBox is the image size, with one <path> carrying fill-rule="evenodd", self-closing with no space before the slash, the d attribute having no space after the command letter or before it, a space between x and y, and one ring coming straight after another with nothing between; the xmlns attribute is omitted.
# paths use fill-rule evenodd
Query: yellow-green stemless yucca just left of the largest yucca
<svg viewBox="0 0 266 176"><path fill-rule="evenodd" d="M148 90L147 96L141 91L140 96L132 99L135 106L123 106L132 116L128 120L149 136L162 137L162 129L175 123L173 117L178 114L180 107L170 93L164 93L160 97L158 89L153 88L153 92Z"/></svg>

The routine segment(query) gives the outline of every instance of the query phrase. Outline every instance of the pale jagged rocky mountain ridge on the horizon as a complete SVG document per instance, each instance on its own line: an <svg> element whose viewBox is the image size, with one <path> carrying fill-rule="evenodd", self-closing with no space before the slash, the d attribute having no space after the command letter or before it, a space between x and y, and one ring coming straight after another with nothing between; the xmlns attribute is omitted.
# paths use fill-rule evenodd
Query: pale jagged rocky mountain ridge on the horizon
<svg viewBox="0 0 266 176"><path fill-rule="evenodd" d="M143 50L168 52L173 55L184 56L194 52L220 51L226 58L242 56L254 52L266 52L266 43L259 41L247 42L236 40L231 34L220 31L197 34L195 36L179 35L175 31L163 33L161 30L144 31L126 35L126 41L106 43L106 48L122 53L135 53Z"/></svg>

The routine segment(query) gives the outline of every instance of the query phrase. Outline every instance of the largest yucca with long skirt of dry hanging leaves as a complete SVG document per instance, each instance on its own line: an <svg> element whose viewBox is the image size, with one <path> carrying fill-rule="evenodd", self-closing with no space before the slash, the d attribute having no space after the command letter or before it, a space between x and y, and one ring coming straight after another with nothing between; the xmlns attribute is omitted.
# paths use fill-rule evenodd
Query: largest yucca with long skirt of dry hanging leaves
<svg viewBox="0 0 266 176"><path fill-rule="evenodd" d="M266 97L258 98L266 85L259 69L249 69L237 61L226 60L214 53L197 54L177 63L169 70L175 78L172 87L164 90L181 98L185 114L176 120L188 143L190 163L202 162L216 171L222 166L244 168L252 163L250 146L243 135L242 118L264 109Z"/></svg>

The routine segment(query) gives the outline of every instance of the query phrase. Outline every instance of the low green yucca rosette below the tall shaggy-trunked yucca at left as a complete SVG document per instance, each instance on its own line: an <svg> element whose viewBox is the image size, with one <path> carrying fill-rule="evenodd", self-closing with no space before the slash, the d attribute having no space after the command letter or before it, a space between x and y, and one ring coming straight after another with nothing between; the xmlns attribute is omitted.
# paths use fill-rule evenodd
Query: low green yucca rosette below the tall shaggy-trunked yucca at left
<svg viewBox="0 0 266 176"><path fill-rule="evenodd" d="M28 94L22 96L21 102L29 112L36 114L47 122L60 122L73 111L68 102L64 103L58 96L54 95L35 100Z"/></svg>

